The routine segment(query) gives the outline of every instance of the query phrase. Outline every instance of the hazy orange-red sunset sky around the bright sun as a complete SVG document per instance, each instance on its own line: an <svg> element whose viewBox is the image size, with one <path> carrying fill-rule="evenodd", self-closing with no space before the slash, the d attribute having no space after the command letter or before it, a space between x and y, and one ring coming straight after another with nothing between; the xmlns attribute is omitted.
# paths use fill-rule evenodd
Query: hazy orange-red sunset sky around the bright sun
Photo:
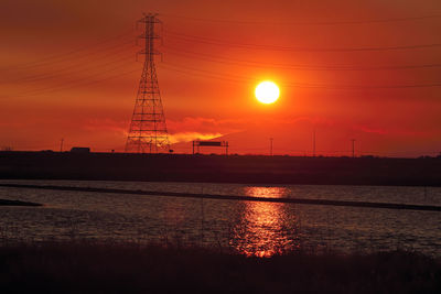
<svg viewBox="0 0 441 294"><path fill-rule="evenodd" d="M105 4L104 4L105 3ZM0 148L122 152L142 62L136 21L163 22L158 79L170 140L232 153L441 152L441 1L0 3ZM142 56L139 56L142 58ZM279 85L272 105L261 80ZM207 152L218 152L207 150Z"/></svg>

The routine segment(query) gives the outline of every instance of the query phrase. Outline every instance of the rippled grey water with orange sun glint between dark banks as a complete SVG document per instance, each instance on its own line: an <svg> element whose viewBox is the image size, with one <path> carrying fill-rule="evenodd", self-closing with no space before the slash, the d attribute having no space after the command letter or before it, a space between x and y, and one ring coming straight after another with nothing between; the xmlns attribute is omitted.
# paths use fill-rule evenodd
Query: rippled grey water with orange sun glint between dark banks
<svg viewBox="0 0 441 294"><path fill-rule="evenodd" d="M0 181L259 197L441 205L438 187L312 186L92 181ZM0 240L173 242L229 247L249 255L283 250L407 249L441 255L441 214L355 207L0 187L0 198L44 204L0 207Z"/></svg>

